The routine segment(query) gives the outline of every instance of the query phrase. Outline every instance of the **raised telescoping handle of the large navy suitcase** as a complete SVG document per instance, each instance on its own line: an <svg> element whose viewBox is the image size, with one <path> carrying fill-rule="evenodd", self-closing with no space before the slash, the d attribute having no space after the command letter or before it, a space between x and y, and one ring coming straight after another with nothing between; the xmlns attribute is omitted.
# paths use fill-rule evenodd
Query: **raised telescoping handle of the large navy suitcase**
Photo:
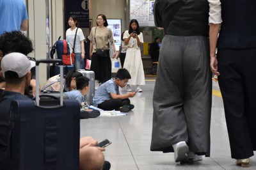
<svg viewBox="0 0 256 170"><path fill-rule="evenodd" d="M63 105L63 62L61 59L38 59L36 60L36 105L40 106L39 104L39 64L40 63L58 63L60 65L60 105Z"/></svg>

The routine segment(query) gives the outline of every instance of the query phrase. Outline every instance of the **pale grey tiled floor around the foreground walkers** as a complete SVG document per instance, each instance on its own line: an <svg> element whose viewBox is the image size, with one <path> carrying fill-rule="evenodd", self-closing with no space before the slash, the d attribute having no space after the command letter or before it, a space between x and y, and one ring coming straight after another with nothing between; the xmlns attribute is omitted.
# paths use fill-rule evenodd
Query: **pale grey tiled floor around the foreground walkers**
<svg viewBox="0 0 256 170"><path fill-rule="evenodd" d="M173 153L150 151L152 131L152 96L154 77L147 77L143 93L131 98L134 109L126 116L100 116L81 120L81 136L91 135L98 141L109 139L112 144L104 152L115 170L155 169L256 169L256 157L250 158L250 167L235 165L230 157L227 126L218 82L213 82L211 118L211 157L194 164L179 164ZM121 93L126 93L124 89Z"/></svg>

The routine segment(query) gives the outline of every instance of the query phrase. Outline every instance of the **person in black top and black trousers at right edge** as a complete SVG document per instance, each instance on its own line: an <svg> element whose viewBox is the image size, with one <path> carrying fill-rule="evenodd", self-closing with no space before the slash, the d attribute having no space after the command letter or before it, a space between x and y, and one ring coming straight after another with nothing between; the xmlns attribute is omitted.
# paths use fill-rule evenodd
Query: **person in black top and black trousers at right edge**
<svg viewBox="0 0 256 170"><path fill-rule="evenodd" d="M218 54L211 55L211 70L218 75L231 157L248 167L256 150L256 2L221 1L221 16Z"/></svg>

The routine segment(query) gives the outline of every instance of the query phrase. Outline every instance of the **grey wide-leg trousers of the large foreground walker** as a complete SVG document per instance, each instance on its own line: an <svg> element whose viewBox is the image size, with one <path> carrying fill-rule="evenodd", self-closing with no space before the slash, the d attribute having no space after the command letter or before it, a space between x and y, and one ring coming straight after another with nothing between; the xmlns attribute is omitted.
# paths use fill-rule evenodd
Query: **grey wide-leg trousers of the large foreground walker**
<svg viewBox="0 0 256 170"><path fill-rule="evenodd" d="M152 151L173 151L185 141L189 151L210 155L211 70L207 36L165 35L154 89Z"/></svg>

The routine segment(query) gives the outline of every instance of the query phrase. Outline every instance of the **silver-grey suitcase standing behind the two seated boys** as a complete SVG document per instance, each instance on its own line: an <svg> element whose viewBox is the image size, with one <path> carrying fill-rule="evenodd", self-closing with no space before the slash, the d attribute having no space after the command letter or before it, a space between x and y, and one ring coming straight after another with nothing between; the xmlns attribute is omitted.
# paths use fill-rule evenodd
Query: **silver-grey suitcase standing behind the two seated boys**
<svg viewBox="0 0 256 170"><path fill-rule="evenodd" d="M84 98L89 105L93 105L93 97L95 93L95 73L93 71L88 70L77 70L77 72L80 72L83 74L83 76L88 77L90 79L89 86L90 89L88 91L87 95L84 95Z"/></svg>

